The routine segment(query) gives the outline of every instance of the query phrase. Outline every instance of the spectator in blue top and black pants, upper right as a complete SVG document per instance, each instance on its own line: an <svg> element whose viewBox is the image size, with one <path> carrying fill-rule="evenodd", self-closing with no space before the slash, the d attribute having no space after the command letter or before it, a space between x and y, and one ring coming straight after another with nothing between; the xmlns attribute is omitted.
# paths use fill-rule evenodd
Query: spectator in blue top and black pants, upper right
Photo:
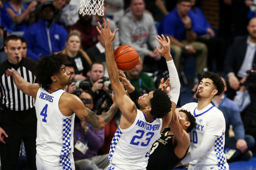
<svg viewBox="0 0 256 170"><path fill-rule="evenodd" d="M225 41L215 37L215 32L212 30L209 22L204 17L199 7L195 6L196 0L191 1L191 9L189 16L193 18L193 31L196 33L196 41L206 44L208 48L207 66L209 71L213 70L214 59L216 62L216 71L223 71L223 63L225 60Z"/></svg>

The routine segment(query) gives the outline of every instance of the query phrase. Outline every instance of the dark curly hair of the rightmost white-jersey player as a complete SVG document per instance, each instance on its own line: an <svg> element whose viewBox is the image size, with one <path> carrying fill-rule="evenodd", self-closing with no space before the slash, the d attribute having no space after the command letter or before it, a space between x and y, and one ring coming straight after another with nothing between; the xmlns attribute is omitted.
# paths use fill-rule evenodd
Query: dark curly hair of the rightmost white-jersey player
<svg viewBox="0 0 256 170"><path fill-rule="evenodd" d="M217 92L217 94L215 94L215 96L220 95L224 91L225 85L217 73L208 71L208 72L205 72L202 77L212 80L213 85L218 90L218 92Z"/></svg>

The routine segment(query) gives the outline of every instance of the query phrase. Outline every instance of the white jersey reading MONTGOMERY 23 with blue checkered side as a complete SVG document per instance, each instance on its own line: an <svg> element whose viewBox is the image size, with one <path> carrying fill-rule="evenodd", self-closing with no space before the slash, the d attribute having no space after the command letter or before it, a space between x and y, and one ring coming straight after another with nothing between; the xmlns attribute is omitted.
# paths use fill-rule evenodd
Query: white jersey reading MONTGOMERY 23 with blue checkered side
<svg viewBox="0 0 256 170"><path fill-rule="evenodd" d="M146 122L145 115L137 110L133 124L127 129L117 128L108 160L122 170L143 170L147 166L151 145L161 136L161 119Z"/></svg>

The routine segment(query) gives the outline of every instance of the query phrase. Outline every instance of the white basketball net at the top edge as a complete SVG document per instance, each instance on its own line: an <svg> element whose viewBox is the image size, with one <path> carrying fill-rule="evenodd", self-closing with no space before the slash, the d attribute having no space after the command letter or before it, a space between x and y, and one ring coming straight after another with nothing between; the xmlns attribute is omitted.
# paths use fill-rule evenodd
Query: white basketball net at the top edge
<svg viewBox="0 0 256 170"><path fill-rule="evenodd" d="M80 0L79 13L82 15L95 15L97 13L103 16L103 2L104 0Z"/></svg>

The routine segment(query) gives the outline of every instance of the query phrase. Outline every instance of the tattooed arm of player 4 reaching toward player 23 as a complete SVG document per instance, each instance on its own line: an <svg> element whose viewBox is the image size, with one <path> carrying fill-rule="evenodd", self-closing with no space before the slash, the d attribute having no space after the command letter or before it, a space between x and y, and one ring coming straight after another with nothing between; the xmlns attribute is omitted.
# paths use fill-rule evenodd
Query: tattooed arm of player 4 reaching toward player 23
<svg viewBox="0 0 256 170"><path fill-rule="evenodd" d="M110 122L118 109L117 104L113 102L106 113L96 115L94 112L86 108L82 101L75 95L63 93L60 100L61 101L59 101L59 103L61 103L62 106L66 106L70 110L69 113L75 113L78 118L86 121L92 128L97 130L103 129L106 124ZM64 112L65 111L61 110L61 113Z"/></svg>

